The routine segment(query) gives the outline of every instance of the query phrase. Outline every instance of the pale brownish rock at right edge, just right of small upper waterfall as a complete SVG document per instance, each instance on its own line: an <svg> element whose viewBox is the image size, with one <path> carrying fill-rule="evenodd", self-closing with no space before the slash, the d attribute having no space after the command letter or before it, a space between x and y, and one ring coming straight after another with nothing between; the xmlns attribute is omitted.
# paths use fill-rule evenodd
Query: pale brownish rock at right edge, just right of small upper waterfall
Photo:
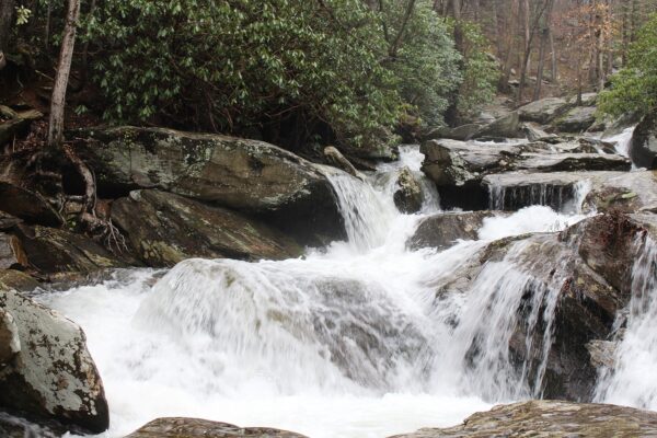
<svg viewBox="0 0 657 438"><path fill-rule="evenodd" d="M610 174L596 181L584 199L585 211L657 212L657 172Z"/></svg>

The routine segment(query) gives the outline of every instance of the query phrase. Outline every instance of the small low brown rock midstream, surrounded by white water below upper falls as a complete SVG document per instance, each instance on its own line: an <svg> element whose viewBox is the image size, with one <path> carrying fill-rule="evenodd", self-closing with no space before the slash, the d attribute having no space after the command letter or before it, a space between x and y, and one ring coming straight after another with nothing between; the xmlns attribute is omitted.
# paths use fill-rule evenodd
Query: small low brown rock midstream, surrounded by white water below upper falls
<svg viewBox="0 0 657 438"><path fill-rule="evenodd" d="M484 219L495 216L493 211L440 212L433 215L417 227L406 245L411 250L435 247L445 250L458 240L476 240Z"/></svg>

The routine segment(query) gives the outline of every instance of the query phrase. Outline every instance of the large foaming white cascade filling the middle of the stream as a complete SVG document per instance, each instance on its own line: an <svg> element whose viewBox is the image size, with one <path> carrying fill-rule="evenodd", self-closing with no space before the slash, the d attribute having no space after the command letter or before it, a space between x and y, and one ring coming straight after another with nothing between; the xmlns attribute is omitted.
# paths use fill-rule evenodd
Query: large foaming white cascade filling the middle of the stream
<svg viewBox="0 0 657 438"><path fill-rule="evenodd" d="M540 318L550 324L556 295L534 288L537 310L523 321L510 311L532 281L515 260L522 242L486 265L471 290L437 290L486 241L557 231L583 217L534 206L487 219L479 241L410 251L418 222L439 208L426 183L420 214L402 215L393 204L397 172L419 175L420 162L417 148L406 147L366 183L333 177L348 241L301 258L188 260L42 296L87 333L111 410L102 436L189 416L312 438L383 438L540 396L541 367L511 366L508 342L517 324L528 332ZM548 331L527 347L546 351L550 341Z"/></svg>

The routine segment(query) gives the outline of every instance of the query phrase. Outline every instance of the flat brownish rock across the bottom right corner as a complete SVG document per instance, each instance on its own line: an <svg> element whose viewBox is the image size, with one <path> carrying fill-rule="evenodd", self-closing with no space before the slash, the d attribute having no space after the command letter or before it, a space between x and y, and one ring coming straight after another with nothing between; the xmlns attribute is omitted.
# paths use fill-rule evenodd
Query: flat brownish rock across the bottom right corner
<svg viewBox="0 0 657 438"><path fill-rule="evenodd" d="M468 417L462 425L420 429L391 438L489 437L649 437L657 435L657 414L606 404L534 400L499 405Z"/></svg>

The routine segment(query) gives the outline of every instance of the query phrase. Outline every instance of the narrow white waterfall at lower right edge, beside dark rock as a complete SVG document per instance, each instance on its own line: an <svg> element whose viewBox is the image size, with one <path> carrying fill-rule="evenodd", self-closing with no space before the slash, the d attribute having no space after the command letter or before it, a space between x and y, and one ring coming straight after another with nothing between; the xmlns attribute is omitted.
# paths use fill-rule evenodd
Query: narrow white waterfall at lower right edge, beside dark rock
<svg viewBox="0 0 657 438"><path fill-rule="evenodd" d="M657 244L638 238L635 247L632 298L616 320L614 365L601 370L596 400L657 410Z"/></svg>

